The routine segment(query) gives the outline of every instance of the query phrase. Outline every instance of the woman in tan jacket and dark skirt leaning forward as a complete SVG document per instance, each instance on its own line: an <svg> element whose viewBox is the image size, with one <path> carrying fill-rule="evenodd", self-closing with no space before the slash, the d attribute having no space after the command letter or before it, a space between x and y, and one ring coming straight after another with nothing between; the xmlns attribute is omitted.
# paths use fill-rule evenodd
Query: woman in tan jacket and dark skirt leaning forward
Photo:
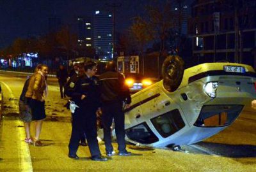
<svg viewBox="0 0 256 172"><path fill-rule="evenodd" d="M42 64L38 68L38 72L35 73L33 78L29 80L28 91L26 92L26 97L31 96L31 101L29 103L32 113L32 120L35 120L35 138L33 140L34 146L42 147L43 144L39 140L42 123L45 115L45 97L47 97L48 89L45 77L48 73L48 67Z"/></svg>

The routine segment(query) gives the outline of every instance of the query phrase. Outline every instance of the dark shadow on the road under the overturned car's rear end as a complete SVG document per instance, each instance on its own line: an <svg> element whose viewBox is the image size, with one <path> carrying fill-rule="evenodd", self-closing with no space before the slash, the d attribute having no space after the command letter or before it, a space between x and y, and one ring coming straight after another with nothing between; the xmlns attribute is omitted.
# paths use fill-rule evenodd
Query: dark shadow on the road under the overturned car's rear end
<svg viewBox="0 0 256 172"><path fill-rule="evenodd" d="M216 155L232 158L256 157L256 145L229 145L223 143L200 142L196 145L204 147Z"/></svg>

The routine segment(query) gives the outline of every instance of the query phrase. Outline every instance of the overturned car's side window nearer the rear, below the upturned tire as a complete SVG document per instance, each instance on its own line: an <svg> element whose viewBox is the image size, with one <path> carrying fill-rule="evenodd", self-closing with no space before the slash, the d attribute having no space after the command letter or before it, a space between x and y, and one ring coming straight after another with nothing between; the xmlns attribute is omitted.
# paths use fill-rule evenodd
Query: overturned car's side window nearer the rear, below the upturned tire
<svg viewBox="0 0 256 172"><path fill-rule="evenodd" d="M185 126L179 110L172 110L151 119L152 124L163 138L167 138Z"/></svg>

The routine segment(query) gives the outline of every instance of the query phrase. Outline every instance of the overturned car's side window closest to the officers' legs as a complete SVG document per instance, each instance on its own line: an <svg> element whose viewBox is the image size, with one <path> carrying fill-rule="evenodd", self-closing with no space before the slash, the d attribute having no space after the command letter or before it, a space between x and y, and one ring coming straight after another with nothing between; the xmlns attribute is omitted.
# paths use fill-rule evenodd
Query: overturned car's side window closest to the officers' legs
<svg viewBox="0 0 256 172"><path fill-rule="evenodd" d="M137 141L138 143L151 144L159 141L146 122L126 129L125 133L129 139Z"/></svg>

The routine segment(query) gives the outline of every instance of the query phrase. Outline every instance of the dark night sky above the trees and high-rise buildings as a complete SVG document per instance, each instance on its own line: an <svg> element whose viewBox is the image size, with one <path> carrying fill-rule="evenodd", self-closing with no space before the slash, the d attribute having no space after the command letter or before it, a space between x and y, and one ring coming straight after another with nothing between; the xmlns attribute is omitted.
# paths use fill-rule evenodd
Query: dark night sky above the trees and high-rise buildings
<svg viewBox="0 0 256 172"><path fill-rule="evenodd" d="M64 24L76 24L77 16L92 17L95 10L111 10L113 0L0 0L0 48L15 38L42 35L48 31L48 18L60 17ZM116 0L118 31L127 29L130 18L141 13L148 0Z"/></svg>

